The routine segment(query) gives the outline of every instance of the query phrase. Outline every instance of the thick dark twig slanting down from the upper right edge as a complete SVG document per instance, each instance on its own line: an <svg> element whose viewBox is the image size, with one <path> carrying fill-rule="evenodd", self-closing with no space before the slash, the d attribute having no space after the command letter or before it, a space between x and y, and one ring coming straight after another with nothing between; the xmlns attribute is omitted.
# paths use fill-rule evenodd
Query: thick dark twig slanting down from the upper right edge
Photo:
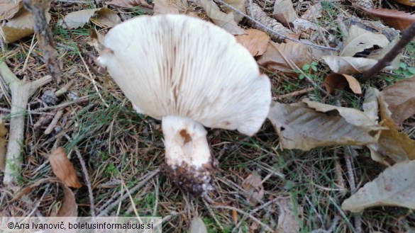
<svg viewBox="0 0 415 233"><path fill-rule="evenodd" d="M402 38L397 42L397 44L394 47L392 47L392 49L389 50L389 52L387 52L387 54L384 55L382 59L377 61L377 63L372 68L367 70L367 72L364 72L362 76L360 76L359 80L363 82L372 79L372 77L375 76L378 72L380 72L384 67L390 65L393 59L397 57L397 55L399 55L399 53L402 52L402 50L404 50L406 45L408 45L409 42L411 42L411 40L414 39L414 37L415 23L412 23L409 26L409 28L406 28L402 32Z"/></svg>

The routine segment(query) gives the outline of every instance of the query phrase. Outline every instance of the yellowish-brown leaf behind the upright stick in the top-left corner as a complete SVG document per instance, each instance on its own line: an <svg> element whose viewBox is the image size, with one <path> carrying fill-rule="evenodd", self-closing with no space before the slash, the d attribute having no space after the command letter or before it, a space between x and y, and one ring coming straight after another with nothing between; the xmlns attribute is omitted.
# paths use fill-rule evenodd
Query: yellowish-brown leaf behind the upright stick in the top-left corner
<svg viewBox="0 0 415 233"><path fill-rule="evenodd" d="M46 21L49 23L50 13L48 11L49 6L45 8ZM9 18L6 23L1 23L0 34L4 42L10 43L33 34L34 27L33 14L21 8L19 13L13 15L13 18Z"/></svg>

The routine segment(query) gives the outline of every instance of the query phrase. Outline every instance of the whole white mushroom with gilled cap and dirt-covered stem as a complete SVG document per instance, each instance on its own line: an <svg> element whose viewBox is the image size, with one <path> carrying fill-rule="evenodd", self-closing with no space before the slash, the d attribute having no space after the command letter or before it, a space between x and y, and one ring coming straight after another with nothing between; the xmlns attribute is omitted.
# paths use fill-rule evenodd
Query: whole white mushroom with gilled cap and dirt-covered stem
<svg viewBox="0 0 415 233"><path fill-rule="evenodd" d="M138 16L109 30L99 63L138 113L162 120L167 176L211 191L204 126L252 136L267 118L270 80L233 35L184 15Z"/></svg>

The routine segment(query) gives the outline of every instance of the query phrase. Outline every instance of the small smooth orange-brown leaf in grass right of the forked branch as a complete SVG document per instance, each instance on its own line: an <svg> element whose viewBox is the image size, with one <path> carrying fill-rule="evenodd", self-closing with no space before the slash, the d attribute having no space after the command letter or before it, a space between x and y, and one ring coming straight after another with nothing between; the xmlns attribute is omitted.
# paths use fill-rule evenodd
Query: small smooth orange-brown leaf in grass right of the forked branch
<svg viewBox="0 0 415 233"><path fill-rule="evenodd" d="M50 166L52 166L53 173L57 178L65 183L65 185L72 188L81 188L82 184L79 183L77 173L71 161L67 158L67 154L63 147L58 147L50 153L49 156Z"/></svg>

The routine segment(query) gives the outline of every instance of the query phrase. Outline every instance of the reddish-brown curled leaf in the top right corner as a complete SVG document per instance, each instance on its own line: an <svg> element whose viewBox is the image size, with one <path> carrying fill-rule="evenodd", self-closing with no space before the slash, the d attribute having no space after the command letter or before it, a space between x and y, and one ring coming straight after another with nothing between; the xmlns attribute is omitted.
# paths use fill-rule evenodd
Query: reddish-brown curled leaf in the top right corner
<svg viewBox="0 0 415 233"><path fill-rule="evenodd" d="M384 23L392 26L397 30L404 30L405 28L408 28L411 25L411 23L415 22L415 15L411 15L410 13L406 13L404 11L382 8L361 9L372 17L380 18Z"/></svg>

